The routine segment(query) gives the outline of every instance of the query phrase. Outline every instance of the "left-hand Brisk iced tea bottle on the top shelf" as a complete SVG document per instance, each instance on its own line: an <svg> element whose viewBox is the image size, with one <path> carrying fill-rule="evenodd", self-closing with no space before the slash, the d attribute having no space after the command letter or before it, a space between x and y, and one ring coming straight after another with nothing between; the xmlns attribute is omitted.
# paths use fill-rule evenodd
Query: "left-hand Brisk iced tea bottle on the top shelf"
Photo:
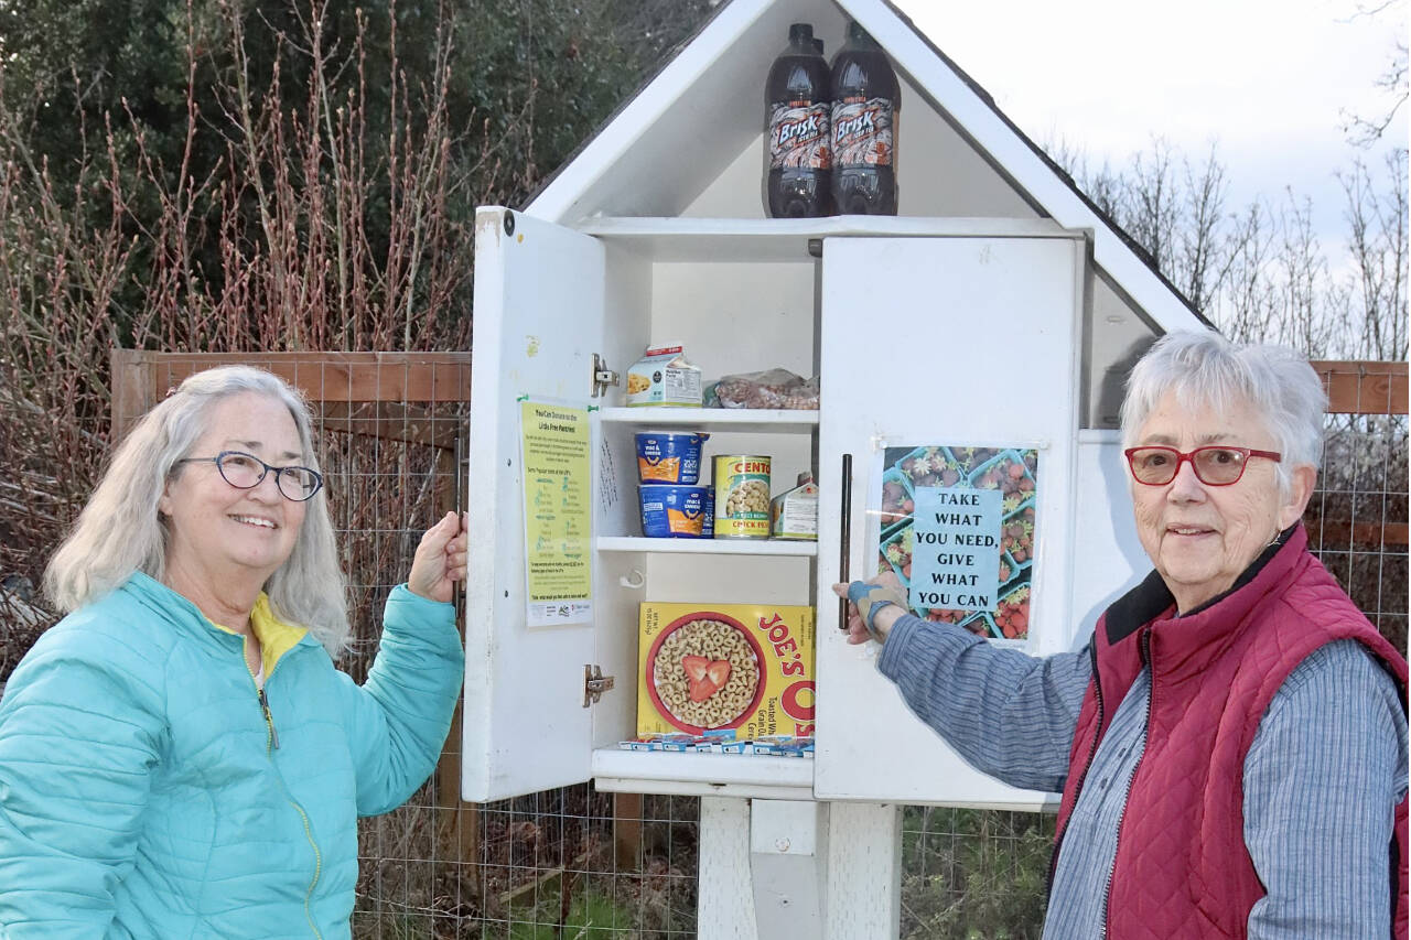
<svg viewBox="0 0 1411 940"><path fill-rule="evenodd" d="M832 152L828 147L828 64L813 27L789 27L789 48L765 83L765 212L772 219L828 215Z"/></svg>

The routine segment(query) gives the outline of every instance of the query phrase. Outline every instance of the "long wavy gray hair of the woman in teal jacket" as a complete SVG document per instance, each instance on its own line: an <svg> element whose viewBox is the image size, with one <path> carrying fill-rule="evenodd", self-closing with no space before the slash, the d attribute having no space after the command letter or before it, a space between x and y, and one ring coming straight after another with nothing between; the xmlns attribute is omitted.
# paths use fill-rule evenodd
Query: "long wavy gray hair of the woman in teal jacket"
<svg viewBox="0 0 1411 940"><path fill-rule="evenodd" d="M113 454L73 531L49 560L44 589L63 613L96 601L143 572L161 582L166 570L166 522L157 511L166 481L182 471L206 430L212 408L241 392L284 404L299 430L302 462L319 469L309 406L278 375L251 366L196 373L143 415ZM346 580L329 518L327 490L309 500L293 550L264 590L274 614L306 627L330 655L347 644Z"/></svg>

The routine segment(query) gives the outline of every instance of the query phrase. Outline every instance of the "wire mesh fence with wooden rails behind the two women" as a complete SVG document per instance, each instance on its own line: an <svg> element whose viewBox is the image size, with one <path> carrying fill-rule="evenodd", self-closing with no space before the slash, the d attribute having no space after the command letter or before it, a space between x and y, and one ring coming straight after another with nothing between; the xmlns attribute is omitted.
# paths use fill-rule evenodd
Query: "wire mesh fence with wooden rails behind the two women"
<svg viewBox="0 0 1411 940"><path fill-rule="evenodd" d="M463 491L468 356L238 358L293 381L319 415L354 618L341 666L363 679L382 601L405 576L420 532L474 498ZM209 356L134 360L131 368L145 371L127 384L119 411L140 414L161 390L212 364ZM1305 524L1314 552L1404 649L1401 381L1400 399L1363 408L1359 391L1355 405L1333 402L1346 411L1328 415L1324 471ZM584 783L471 806L460 800L459 749L457 714L432 779L401 809L361 823L354 937L697 936L697 799L600 793ZM1048 814L904 807L900 936L1038 937L1053 826Z"/></svg>

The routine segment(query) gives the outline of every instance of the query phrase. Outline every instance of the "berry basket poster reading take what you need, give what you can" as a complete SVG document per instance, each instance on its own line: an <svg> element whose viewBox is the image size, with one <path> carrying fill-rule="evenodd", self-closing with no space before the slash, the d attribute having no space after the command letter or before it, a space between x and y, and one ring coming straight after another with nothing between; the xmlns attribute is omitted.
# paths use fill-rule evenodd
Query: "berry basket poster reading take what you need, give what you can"
<svg viewBox="0 0 1411 940"><path fill-rule="evenodd" d="M886 447L878 573L902 579L917 617L1026 639L1037 488L1037 450Z"/></svg>

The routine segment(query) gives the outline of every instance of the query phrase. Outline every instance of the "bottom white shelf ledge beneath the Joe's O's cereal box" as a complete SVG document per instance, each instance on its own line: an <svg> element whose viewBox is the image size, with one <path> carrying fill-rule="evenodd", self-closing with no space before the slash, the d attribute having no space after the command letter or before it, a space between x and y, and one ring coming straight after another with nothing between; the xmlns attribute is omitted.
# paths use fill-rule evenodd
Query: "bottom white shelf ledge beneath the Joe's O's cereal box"
<svg viewBox="0 0 1411 940"><path fill-rule="evenodd" d="M617 793L680 793L753 799L813 799L809 758L745 754L673 754L598 748L594 788Z"/></svg>

